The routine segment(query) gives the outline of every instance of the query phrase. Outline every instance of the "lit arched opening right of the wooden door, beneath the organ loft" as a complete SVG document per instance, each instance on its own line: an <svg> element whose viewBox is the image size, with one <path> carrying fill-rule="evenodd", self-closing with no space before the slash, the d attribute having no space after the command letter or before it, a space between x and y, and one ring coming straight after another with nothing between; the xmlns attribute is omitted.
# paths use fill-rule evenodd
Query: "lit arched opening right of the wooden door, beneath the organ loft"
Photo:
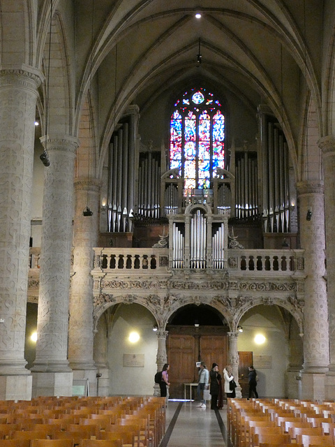
<svg viewBox="0 0 335 447"><path fill-rule="evenodd" d="M248 397L248 366L258 375L260 397L299 395L299 371L304 362L299 325L278 305L257 305L239 320L239 384Z"/></svg>

